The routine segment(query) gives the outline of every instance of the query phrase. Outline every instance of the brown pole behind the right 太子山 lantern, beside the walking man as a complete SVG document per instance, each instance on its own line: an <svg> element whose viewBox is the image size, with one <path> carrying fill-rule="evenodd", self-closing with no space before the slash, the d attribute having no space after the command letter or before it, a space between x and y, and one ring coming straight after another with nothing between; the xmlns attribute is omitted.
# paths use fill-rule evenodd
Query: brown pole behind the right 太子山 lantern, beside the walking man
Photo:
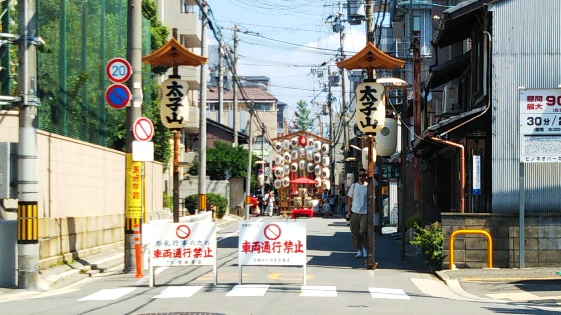
<svg viewBox="0 0 561 315"><path fill-rule="evenodd" d="M374 43L374 0L366 0L366 44ZM374 80L374 68L368 68L368 80ZM366 141L368 150L368 257L366 259L366 266L368 269L376 268L376 233L375 229L375 212L376 212L376 184L374 179L374 148L376 147L376 141L373 135L368 135ZM380 172L380 170L378 170Z"/></svg>

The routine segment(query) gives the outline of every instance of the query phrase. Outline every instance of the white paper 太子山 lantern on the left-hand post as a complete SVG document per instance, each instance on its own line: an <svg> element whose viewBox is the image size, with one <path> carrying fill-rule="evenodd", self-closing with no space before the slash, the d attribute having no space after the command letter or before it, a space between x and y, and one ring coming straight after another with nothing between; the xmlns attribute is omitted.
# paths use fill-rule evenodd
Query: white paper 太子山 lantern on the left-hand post
<svg viewBox="0 0 561 315"><path fill-rule="evenodd" d="M189 121L189 84L179 78L168 78L160 85L160 119L167 128L185 128Z"/></svg>

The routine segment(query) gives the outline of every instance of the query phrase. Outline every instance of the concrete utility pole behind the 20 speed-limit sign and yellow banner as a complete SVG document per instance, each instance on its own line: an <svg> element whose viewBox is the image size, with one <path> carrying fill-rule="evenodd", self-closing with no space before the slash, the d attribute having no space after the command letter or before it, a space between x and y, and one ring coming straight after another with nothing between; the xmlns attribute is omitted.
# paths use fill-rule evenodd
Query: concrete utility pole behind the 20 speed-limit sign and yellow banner
<svg viewBox="0 0 561 315"><path fill-rule="evenodd" d="M142 1L128 0L128 25L127 25L127 59L132 66L132 76L128 80L128 89L132 92L132 106L127 107L126 152L132 154L133 124L142 116ZM127 159L127 164L132 159ZM127 165L126 169L132 168ZM128 192L128 187L126 192ZM132 198L126 193L126 198ZM142 197L141 197L142 200ZM125 218L125 273L136 272L136 251L134 229L136 224L141 224L141 217Z"/></svg>

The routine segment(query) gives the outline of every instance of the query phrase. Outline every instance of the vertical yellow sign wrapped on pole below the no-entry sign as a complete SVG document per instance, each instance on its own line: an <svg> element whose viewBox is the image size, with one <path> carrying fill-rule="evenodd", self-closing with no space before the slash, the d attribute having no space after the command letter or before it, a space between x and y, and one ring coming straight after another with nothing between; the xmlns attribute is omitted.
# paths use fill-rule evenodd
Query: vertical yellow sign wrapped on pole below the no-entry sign
<svg viewBox="0 0 561 315"><path fill-rule="evenodd" d="M132 154L127 153L127 200L126 218L142 218L142 162L132 161Z"/></svg>

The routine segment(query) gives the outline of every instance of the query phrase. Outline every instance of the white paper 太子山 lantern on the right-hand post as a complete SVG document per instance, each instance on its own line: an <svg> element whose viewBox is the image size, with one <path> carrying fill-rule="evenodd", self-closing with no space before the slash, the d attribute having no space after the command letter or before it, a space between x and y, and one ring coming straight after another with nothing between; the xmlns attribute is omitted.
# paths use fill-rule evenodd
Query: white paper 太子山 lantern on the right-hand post
<svg viewBox="0 0 561 315"><path fill-rule="evenodd" d="M384 128L384 86L376 82L363 82L356 89L356 116L358 129L364 133L377 133Z"/></svg>

